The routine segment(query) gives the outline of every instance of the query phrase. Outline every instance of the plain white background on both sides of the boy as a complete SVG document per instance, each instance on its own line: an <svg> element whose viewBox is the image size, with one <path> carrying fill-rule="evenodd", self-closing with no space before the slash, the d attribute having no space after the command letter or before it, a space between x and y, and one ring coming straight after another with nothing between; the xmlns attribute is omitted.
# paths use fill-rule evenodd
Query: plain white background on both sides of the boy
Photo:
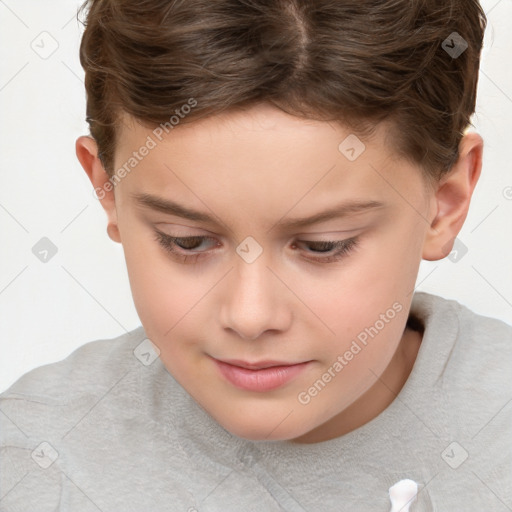
<svg viewBox="0 0 512 512"><path fill-rule="evenodd" d="M0 0L0 391L88 341L140 325L122 247L107 237L75 156L76 138L87 134L78 5ZM457 263L422 262L417 289L512 324L512 2L482 5L489 25L473 123L486 146L459 235L468 253ZM58 44L46 59L32 48L41 38L46 50ZM42 237L58 249L47 263L32 253Z"/></svg>

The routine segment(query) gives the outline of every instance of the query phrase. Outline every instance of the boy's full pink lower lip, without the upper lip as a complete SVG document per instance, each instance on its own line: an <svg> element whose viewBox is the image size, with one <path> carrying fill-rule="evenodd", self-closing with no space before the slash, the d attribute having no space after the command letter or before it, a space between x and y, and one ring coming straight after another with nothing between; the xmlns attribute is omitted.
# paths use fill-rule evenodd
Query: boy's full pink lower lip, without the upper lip
<svg viewBox="0 0 512 512"><path fill-rule="evenodd" d="M247 391L270 391L279 388L299 375L309 361L291 366L273 366L271 368L262 368L261 370L249 370L240 366L223 363L214 359L222 375L231 384Z"/></svg>

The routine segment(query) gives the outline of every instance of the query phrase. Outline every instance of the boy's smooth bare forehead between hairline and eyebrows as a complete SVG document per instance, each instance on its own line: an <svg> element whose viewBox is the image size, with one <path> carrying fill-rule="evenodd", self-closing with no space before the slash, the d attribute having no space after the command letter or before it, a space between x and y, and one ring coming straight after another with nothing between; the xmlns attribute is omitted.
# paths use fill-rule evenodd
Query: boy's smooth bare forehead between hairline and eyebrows
<svg viewBox="0 0 512 512"><path fill-rule="evenodd" d="M168 133L125 116L115 164L135 162L123 184L132 198L179 198L194 210L224 217L263 212L272 222L286 211L306 217L343 201L396 201L390 184L407 185L419 171L390 151L387 128L377 126L363 144L343 125L266 105L191 121ZM152 149L135 161L132 155L148 141ZM355 159L342 151L350 146L359 152Z"/></svg>

